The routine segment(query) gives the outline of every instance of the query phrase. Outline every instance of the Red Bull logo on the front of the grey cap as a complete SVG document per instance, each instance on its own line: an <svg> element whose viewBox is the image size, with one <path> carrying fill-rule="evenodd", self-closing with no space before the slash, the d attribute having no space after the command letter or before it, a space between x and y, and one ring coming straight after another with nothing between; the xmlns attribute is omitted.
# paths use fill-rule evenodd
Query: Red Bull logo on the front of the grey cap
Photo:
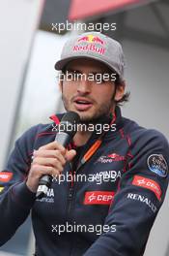
<svg viewBox="0 0 169 256"><path fill-rule="evenodd" d="M86 43L86 44L80 45L81 43ZM101 40L99 36L88 35L88 36L80 37L77 40L77 44L78 45L73 47L74 51L90 50L90 51L95 51L99 54L104 54L104 52L105 52L105 48L103 47L105 42L103 40Z"/></svg>

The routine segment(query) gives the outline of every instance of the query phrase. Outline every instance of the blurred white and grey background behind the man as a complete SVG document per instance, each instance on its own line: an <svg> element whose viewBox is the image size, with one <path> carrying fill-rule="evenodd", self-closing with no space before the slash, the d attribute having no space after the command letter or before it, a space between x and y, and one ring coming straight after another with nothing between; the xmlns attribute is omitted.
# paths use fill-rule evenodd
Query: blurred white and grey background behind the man
<svg viewBox="0 0 169 256"><path fill-rule="evenodd" d="M49 122L48 117L52 113L64 110L54 63L59 59L63 44L71 32L57 35L40 30L43 4L42 0L5 0L0 3L1 169L17 137L32 125ZM169 6L164 4L156 7L165 17L165 24L160 18L155 18L149 5L127 10L125 16L124 22L130 29L123 31L121 42L127 57L127 90L130 90L131 97L123 107L123 113L142 126L159 130L169 139L169 48L162 47L162 40L156 40L156 45L151 45L148 40L148 35L151 38L155 35L158 39L160 36L169 38L169 20L166 19ZM113 15L107 18L114 21ZM120 30L121 19L117 22L118 26ZM144 31L147 36L142 37L142 33L138 32L137 37L133 38L136 29ZM145 256L169 255L168 203L167 193ZM14 239L0 248L0 255L14 255L7 252L17 256L30 255L29 250L34 250L30 226L28 220Z"/></svg>

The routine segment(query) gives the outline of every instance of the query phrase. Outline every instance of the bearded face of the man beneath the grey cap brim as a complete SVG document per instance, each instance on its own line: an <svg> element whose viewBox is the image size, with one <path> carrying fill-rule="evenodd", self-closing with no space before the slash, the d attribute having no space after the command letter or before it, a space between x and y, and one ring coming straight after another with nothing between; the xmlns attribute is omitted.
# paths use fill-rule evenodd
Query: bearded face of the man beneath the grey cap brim
<svg viewBox="0 0 169 256"><path fill-rule="evenodd" d="M67 111L78 112L83 122L92 122L108 115L115 108L115 100L124 94L124 86L115 90L112 77L99 80L103 74L111 76L108 67L99 61L85 58L72 60L66 71L70 74L69 80L60 83L63 103ZM74 74L79 76L78 80L71 80Z"/></svg>

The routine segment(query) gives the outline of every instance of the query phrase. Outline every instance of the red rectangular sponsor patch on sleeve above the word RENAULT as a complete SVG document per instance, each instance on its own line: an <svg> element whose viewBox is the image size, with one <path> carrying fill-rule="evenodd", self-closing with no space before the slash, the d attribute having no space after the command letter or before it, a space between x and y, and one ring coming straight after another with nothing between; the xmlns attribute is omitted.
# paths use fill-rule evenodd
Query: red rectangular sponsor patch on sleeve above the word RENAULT
<svg viewBox="0 0 169 256"><path fill-rule="evenodd" d="M160 201L162 191L158 183L150 178L144 176L134 176L132 180L132 185L144 187L152 190L155 193L156 198Z"/></svg>

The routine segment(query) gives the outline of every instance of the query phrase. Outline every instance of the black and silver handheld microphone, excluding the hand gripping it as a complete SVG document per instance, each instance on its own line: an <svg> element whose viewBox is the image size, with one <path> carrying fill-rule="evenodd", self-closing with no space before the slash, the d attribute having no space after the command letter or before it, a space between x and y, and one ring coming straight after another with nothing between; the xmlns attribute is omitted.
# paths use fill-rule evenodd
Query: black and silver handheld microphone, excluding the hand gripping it
<svg viewBox="0 0 169 256"><path fill-rule="evenodd" d="M67 147L73 136L75 135L77 129L76 125L80 122L80 116L76 112L67 112L61 119L60 124L58 125L57 135L55 141L63 146ZM41 199L44 195L47 194L48 188L51 185L52 176L42 176L39 181L39 187L37 190L36 197Z"/></svg>

